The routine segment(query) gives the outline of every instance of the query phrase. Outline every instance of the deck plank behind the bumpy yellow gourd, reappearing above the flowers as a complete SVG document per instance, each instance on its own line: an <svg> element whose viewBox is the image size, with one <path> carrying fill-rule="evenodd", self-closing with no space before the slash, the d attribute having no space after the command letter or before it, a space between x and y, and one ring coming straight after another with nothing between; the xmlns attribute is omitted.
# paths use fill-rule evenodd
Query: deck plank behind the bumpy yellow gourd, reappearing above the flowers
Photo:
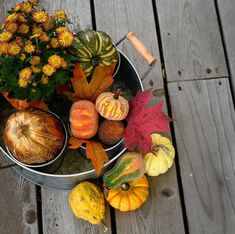
<svg viewBox="0 0 235 234"><path fill-rule="evenodd" d="M42 1L41 7L53 13L57 9L64 9L74 24L71 29L76 32L81 28L92 27L89 1ZM92 225L75 218L68 205L69 191L41 188L43 233L45 234L80 234L103 233L101 225ZM105 223L111 233L109 207L106 208Z"/></svg>

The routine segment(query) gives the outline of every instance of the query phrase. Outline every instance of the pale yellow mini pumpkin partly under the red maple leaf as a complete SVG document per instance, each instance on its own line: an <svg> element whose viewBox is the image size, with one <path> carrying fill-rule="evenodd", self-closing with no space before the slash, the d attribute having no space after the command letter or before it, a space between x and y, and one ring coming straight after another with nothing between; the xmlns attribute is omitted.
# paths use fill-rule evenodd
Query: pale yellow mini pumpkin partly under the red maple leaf
<svg viewBox="0 0 235 234"><path fill-rule="evenodd" d="M158 176L165 173L173 165L175 149L168 138L157 133L153 133L151 137L152 152L144 156L146 173L149 176Z"/></svg>

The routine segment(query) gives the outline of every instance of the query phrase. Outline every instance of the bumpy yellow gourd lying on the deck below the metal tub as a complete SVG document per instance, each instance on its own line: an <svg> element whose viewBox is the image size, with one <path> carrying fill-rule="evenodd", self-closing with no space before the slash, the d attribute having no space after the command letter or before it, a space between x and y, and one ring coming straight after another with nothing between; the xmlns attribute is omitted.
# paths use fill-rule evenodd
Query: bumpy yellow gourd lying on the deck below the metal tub
<svg viewBox="0 0 235 234"><path fill-rule="evenodd" d="M99 224L105 217L104 195L93 183L85 181L75 186L69 194L68 202L77 218Z"/></svg>

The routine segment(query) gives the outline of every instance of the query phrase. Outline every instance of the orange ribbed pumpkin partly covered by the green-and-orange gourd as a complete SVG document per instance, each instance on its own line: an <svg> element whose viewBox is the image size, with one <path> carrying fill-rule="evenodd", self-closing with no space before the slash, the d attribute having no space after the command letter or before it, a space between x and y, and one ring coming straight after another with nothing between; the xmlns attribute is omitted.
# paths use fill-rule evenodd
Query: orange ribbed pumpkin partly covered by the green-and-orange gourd
<svg viewBox="0 0 235 234"><path fill-rule="evenodd" d="M147 200L148 195L149 183L146 176L105 192L108 203L120 211L138 209Z"/></svg>

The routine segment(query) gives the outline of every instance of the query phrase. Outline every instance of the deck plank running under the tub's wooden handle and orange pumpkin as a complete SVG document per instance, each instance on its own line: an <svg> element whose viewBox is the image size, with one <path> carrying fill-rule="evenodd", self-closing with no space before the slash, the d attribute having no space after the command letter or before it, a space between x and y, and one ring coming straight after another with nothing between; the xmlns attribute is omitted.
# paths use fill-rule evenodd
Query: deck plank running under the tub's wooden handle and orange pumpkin
<svg viewBox="0 0 235 234"><path fill-rule="evenodd" d="M158 56L151 1L95 1L95 15L97 29L108 32L114 41L126 32L134 31ZM137 70L142 71L143 60L129 43L124 42L120 48L134 61ZM151 86L154 102L164 99L160 61L144 81L145 89ZM150 178L150 187L150 198L139 210L127 213L116 211L117 233L184 233L175 167L163 176ZM170 191L170 196L166 197L164 191Z"/></svg>

